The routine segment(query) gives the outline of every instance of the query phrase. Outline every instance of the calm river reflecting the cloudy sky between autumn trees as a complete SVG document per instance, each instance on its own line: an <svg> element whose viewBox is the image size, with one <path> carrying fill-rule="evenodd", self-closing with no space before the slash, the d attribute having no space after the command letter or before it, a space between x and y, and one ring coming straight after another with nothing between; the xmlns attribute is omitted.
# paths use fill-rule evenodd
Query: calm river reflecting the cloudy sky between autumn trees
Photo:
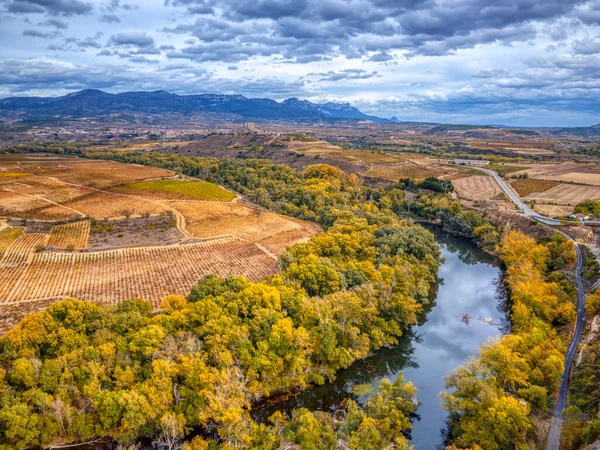
<svg viewBox="0 0 600 450"><path fill-rule="evenodd" d="M419 324L406 332L397 346L338 372L335 381L253 410L255 420L263 422L275 411L289 413L295 408L333 412L347 398L361 403L382 378L394 380L403 372L405 380L419 389L411 443L416 450L445 448L447 414L438 397L444 390L444 376L476 355L486 340L506 332L509 325L499 261L468 240L437 227L427 228L435 234L444 262ZM483 319L492 319L492 323Z"/></svg>

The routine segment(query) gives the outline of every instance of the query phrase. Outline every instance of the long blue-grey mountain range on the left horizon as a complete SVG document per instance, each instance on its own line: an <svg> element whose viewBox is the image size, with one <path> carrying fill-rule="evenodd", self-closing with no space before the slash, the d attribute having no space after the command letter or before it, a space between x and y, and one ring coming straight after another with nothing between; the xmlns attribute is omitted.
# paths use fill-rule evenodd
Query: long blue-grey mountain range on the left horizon
<svg viewBox="0 0 600 450"><path fill-rule="evenodd" d="M239 120L319 121L370 120L390 122L362 113L350 103L312 103L288 98L277 102L268 98L243 95L201 94L177 95L166 91L123 92L109 94L85 89L62 97L10 97L0 99L0 117L18 115L24 118L64 116L94 117L115 113L212 113L226 114Z"/></svg>

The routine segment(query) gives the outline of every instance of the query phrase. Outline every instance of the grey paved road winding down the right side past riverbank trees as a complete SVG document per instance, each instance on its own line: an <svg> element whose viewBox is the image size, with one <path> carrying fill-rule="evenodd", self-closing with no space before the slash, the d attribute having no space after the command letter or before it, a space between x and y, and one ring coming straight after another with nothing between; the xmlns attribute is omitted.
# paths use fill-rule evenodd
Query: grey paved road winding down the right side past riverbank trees
<svg viewBox="0 0 600 450"><path fill-rule="evenodd" d="M523 211L523 214L531 217L534 220L545 223L547 225L561 225L561 221L558 219L553 219L550 217L542 216L531 208L529 208L523 201L514 193L514 191L508 186L504 180L493 170L484 169L480 167L473 167L473 169L479 170L480 172L485 172L488 175L494 177L496 182L500 185L504 193L512 200L512 202ZM587 220L583 222L586 225L600 225L600 221L591 221ZM575 358L575 353L577 353L577 347L579 347L579 342L581 342L581 335L583 333L583 327L585 324L585 291L583 289L583 283L581 282L581 266L583 265L583 257L581 255L581 249L575 240L564 233L561 230L558 230L566 238L573 241L575 245L575 251L577 252L577 264L575 266L575 279L577 281L577 319L575 323L575 332L571 337L571 342L569 344L569 348L567 349L567 354L565 356L565 367L560 379L560 386L558 388L558 398L556 400L556 406L554 407L554 412L552 414L552 424L550 425L550 432L548 433L548 440L546 441L546 450L558 450L560 447L560 434L563 425L563 417L562 411L567 407L567 400L569 394L569 382L571 380L571 367L573 366L573 359Z"/></svg>

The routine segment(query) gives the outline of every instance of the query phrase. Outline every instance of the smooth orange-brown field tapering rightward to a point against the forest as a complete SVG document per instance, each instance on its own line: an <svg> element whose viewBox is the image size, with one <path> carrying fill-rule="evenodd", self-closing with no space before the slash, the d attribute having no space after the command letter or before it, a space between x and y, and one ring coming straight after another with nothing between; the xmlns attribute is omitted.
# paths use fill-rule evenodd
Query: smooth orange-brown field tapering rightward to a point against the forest
<svg viewBox="0 0 600 450"><path fill-rule="evenodd" d="M274 255L307 241L319 227L303 220L275 214L239 203L169 202L185 217L186 229L199 238L232 235L265 247Z"/></svg>

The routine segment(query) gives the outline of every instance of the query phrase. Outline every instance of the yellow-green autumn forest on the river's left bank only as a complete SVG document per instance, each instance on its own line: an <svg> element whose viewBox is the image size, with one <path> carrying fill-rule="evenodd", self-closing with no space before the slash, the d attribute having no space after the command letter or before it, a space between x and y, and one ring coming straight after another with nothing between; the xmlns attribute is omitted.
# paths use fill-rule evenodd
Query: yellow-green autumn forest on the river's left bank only
<svg viewBox="0 0 600 450"><path fill-rule="evenodd" d="M185 171L215 170L202 163ZM143 299L70 299L29 315L0 340L0 448L101 436L170 448L185 436L188 448L407 446L415 389L401 379L342 418L298 410L259 425L249 411L394 345L436 280L431 233L393 212L398 199L329 166L228 162L214 173L325 232L291 247L277 276L209 276L158 313Z"/></svg>

